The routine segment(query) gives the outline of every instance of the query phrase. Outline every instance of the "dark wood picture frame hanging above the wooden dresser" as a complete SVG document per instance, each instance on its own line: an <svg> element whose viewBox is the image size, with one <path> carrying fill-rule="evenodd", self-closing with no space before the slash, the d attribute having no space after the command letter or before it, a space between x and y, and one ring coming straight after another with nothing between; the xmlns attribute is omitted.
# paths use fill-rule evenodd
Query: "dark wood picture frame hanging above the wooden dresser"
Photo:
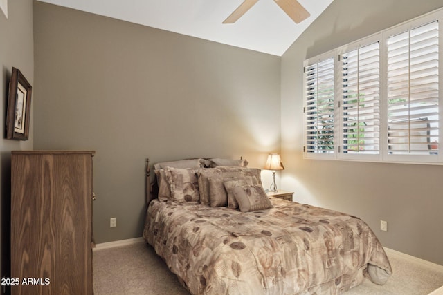
<svg viewBox="0 0 443 295"><path fill-rule="evenodd" d="M17 68L12 68L9 83L8 113L6 115L6 138L28 140L30 102L33 87Z"/></svg>

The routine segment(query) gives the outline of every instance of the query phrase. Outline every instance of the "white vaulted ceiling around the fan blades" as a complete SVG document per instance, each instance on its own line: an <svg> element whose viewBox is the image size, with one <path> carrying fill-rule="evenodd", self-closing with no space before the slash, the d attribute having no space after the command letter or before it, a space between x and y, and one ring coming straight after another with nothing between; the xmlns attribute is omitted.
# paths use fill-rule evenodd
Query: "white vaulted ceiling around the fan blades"
<svg viewBox="0 0 443 295"><path fill-rule="evenodd" d="M281 56L334 0L298 0L310 17L295 23L274 0L259 0L233 24L243 0L39 0L143 26Z"/></svg>

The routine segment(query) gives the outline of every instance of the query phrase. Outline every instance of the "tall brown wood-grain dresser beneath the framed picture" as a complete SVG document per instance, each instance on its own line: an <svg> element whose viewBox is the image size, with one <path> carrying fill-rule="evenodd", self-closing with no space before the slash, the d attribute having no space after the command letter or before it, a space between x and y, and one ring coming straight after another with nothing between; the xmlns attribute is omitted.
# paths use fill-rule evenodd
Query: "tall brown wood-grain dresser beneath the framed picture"
<svg viewBox="0 0 443 295"><path fill-rule="evenodd" d="M93 294L93 151L12 151L11 294Z"/></svg>

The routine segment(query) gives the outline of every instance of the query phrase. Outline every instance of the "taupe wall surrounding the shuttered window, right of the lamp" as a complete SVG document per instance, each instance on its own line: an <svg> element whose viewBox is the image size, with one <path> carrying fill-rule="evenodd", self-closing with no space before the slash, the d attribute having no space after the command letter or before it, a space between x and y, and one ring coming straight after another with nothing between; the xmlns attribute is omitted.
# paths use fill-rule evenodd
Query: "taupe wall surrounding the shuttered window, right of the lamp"
<svg viewBox="0 0 443 295"><path fill-rule="evenodd" d="M335 0L282 57L282 187L359 216L391 249L443 265L443 166L302 159L302 63L442 6L441 0ZM388 232L380 231L388 221Z"/></svg>

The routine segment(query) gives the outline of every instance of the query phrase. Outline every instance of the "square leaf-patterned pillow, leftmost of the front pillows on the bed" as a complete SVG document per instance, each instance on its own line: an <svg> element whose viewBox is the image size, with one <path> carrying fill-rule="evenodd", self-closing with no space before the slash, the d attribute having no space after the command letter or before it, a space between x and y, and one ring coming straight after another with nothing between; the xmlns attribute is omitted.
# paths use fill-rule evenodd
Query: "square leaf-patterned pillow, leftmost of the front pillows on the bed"
<svg viewBox="0 0 443 295"><path fill-rule="evenodd" d="M167 167L166 178L170 183L172 202L199 202L198 169L181 169Z"/></svg>

